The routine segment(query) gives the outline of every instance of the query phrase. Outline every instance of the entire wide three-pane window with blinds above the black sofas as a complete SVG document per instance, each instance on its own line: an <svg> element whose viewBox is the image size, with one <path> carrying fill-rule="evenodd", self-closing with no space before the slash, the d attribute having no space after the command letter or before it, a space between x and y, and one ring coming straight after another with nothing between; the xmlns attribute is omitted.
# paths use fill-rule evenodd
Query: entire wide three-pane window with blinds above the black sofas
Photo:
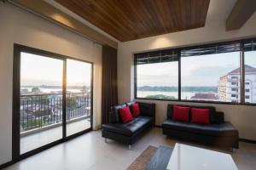
<svg viewBox="0 0 256 170"><path fill-rule="evenodd" d="M256 42L135 54L135 97L256 104Z"/></svg>

